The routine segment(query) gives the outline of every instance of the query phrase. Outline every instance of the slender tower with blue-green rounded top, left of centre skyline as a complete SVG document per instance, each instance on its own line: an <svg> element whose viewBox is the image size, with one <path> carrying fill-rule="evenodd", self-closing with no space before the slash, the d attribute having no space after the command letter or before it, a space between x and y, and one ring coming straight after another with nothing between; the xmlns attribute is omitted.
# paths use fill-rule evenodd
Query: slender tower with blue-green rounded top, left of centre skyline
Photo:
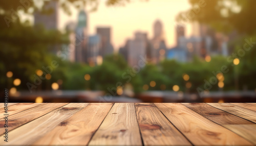
<svg viewBox="0 0 256 146"><path fill-rule="evenodd" d="M78 23L76 27L76 41L75 41L75 61L88 62L87 53L87 14L81 10L78 14Z"/></svg>

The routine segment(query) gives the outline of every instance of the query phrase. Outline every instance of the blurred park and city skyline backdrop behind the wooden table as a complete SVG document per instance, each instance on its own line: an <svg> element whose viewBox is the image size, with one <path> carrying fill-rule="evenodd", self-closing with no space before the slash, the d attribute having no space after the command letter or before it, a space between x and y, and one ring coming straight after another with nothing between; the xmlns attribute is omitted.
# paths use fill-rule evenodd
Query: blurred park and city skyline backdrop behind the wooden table
<svg viewBox="0 0 256 146"><path fill-rule="evenodd" d="M255 102L255 6L0 1L0 93L36 103Z"/></svg>

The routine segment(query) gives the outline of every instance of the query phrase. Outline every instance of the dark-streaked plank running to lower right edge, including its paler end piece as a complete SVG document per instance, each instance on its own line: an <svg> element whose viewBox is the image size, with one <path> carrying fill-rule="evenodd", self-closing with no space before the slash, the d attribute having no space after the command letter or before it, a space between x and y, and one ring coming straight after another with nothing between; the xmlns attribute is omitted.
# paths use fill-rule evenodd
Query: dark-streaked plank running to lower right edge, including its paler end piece
<svg viewBox="0 0 256 146"><path fill-rule="evenodd" d="M183 103L183 105L256 144L255 136L251 135L252 132L256 132L256 125L251 121L205 103Z"/></svg>

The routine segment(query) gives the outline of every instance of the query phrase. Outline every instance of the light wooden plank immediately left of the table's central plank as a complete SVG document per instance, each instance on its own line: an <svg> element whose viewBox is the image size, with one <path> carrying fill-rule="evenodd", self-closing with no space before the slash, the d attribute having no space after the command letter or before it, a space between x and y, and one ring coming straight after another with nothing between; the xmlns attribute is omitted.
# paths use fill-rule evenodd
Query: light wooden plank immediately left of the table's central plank
<svg viewBox="0 0 256 146"><path fill-rule="evenodd" d="M113 103L89 104L32 145L87 145L112 106Z"/></svg>

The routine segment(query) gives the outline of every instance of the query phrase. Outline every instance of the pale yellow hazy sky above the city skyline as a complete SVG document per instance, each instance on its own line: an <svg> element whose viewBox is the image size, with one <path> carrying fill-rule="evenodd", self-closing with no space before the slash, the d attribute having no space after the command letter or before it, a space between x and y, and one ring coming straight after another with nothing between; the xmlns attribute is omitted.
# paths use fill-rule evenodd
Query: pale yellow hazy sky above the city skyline
<svg viewBox="0 0 256 146"><path fill-rule="evenodd" d="M151 39L153 36L153 23L160 19L163 23L165 41L168 47L174 46L176 15L180 11L189 8L187 0L149 0L131 1L122 6L105 6L105 0L99 4L96 12L88 13L89 34L96 33L97 26L110 26L112 28L112 43L115 49L123 46L127 38L133 38L135 31L147 32ZM60 11L59 28L65 28L68 21L77 19L77 10L72 8L72 16L65 15ZM190 34L191 29L187 29L186 34Z"/></svg>

